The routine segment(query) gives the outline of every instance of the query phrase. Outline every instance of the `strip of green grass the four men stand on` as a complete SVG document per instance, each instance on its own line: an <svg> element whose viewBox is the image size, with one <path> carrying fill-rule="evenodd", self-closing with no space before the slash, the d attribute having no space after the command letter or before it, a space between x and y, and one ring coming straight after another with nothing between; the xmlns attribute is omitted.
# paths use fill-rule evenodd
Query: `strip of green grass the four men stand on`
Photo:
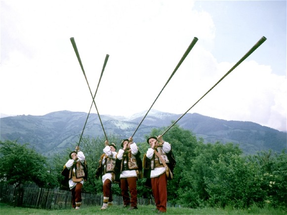
<svg viewBox="0 0 287 215"><path fill-rule="evenodd" d="M13 207L0 203L0 215L143 215L157 214L153 211L153 206L139 206L137 210L123 209L121 206L112 206L105 211L100 210L101 207L82 208L79 211L69 210L42 210L31 208ZM256 206L248 210L236 210L233 208L167 208L167 215L286 215L286 210L275 210L265 207L260 209Z"/></svg>

